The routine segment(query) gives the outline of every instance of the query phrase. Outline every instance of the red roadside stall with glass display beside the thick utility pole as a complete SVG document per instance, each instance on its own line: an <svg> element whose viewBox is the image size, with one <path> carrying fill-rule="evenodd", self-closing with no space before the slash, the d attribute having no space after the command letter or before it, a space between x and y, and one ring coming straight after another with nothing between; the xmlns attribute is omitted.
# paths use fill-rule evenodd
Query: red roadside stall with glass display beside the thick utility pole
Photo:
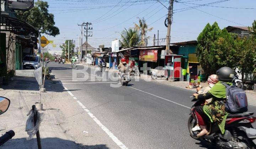
<svg viewBox="0 0 256 149"><path fill-rule="evenodd" d="M181 57L182 55L165 55L165 77L169 77L171 81L180 81L182 78Z"/></svg>

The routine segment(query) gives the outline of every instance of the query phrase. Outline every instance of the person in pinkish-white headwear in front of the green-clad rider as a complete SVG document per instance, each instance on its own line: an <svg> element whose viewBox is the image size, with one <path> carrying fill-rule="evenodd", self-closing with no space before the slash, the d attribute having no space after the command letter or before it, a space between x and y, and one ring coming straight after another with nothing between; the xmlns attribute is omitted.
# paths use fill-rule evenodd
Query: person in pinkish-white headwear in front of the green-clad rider
<svg viewBox="0 0 256 149"><path fill-rule="evenodd" d="M200 88L197 88L197 94L206 94L212 87L218 82L217 75L210 75L207 79L208 86L204 88L204 90L200 90ZM204 104L209 104L212 101L212 98L205 100ZM197 107L196 107L197 109ZM199 131L201 128L199 127L199 124L197 124L194 128L192 128L192 131Z"/></svg>

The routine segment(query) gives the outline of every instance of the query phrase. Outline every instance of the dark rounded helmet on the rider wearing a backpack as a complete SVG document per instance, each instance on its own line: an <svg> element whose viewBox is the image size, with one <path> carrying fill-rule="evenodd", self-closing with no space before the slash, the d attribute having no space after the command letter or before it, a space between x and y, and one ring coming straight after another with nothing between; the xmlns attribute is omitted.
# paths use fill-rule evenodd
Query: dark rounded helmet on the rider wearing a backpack
<svg viewBox="0 0 256 149"><path fill-rule="evenodd" d="M229 67L219 68L216 72L219 81L232 82L234 78L234 71Z"/></svg>

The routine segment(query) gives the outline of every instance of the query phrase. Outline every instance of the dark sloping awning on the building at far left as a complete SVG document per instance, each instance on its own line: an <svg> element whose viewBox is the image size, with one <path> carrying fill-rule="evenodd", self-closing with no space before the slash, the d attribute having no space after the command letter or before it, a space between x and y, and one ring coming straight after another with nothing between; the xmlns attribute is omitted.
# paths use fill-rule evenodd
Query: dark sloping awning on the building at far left
<svg viewBox="0 0 256 149"><path fill-rule="evenodd" d="M17 35L35 36L38 37L38 30L17 18L2 16L1 31L12 32Z"/></svg>

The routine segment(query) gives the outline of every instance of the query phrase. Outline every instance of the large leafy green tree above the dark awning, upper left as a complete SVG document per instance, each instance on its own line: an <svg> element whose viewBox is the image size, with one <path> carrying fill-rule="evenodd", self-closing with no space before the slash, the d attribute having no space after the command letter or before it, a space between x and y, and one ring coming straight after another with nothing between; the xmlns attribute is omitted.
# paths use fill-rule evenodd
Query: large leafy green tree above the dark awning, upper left
<svg viewBox="0 0 256 149"><path fill-rule="evenodd" d="M48 12L48 7L48 2L38 0L32 9L28 11L17 11L17 16L19 19L39 29L40 33L55 37L59 34L59 28L54 26L54 15Z"/></svg>

